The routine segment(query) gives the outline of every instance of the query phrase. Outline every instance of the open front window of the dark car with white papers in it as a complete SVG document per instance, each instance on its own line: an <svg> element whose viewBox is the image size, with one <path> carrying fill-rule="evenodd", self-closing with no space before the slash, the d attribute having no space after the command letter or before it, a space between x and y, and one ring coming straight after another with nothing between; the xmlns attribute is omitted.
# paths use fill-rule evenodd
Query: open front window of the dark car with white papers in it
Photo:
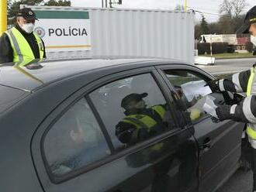
<svg viewBox="0 0 256 192"><path fill-rule="evenodd" d="M185 70L164 70L164 74L181 96L191 120L198 121L206 116L202 106L205 103L205 96L212 93L210 88L205 86L206 81L199 75Z"/></svg>

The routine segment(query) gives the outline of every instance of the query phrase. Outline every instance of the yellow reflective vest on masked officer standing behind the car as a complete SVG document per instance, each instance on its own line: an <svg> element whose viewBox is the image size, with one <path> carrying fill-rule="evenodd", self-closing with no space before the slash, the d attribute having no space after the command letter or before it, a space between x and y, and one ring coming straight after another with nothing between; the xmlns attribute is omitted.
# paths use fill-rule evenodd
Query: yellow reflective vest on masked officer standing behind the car
<svg viewBox="0 0 256 192"><path fill-rule="evenodd" d="M29 46L29 43L26 41L25 37L22 36L22 33L19 32L18 29L12 27L8 31L5 31L7 36L9 36L9 40L13 50L13 62L22 63L23 61L34 60L35 56L33 54L33 50ZM39 36L36 33L33 33L36 37L36 42L38 44L40 58L43 59L43 43Z"/></svg>

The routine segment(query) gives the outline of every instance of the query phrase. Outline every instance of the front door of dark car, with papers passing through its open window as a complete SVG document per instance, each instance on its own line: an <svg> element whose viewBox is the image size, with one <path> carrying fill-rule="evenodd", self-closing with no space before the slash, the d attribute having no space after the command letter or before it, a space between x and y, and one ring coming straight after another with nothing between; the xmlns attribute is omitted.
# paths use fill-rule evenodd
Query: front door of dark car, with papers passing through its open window
<svg viewBox="0 0 256 192"><path fill-rule="evenodd" d="M204 86L212 78L209 74L188 65L159 67L159 72L190 113L200 149L199 191L212 191L237 169L244 124L230 120L219 122L203 111L207 94L216 98L217 105L225 104L223 94L213 94Z"/></svg>

